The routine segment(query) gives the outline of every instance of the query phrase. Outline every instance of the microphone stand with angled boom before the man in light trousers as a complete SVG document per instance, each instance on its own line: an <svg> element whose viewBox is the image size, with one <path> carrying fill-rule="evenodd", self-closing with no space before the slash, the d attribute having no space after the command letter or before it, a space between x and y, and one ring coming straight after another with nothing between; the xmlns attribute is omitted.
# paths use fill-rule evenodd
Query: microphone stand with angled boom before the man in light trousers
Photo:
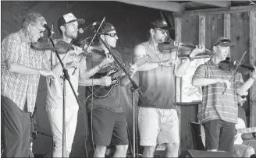
<svg viewBox="0 0 256 158"><path fill-rule="evenodd" d="M76 96L76 92L73 89L73 85L70 82L70 77L69 77L69 73L67 71L66 68L64 68L64 64L62 62L62 59L59 57L59 52L57 51L55 44L52 40L51 37L51 32L48 30L48 38L50 39L50 41L52 42L52 46L55 49L57 58L59 59L59 63L60 65L62 65L62 71L63 71L63 88L62 88L62 94L63 94L63 120L62 120L62 157L66 157L66 80L68 80L69 82L69 86L71 87L72 91L73 91L73 95L76 97L76 102L78 104L78 106L80 107L80 109L82 108L80 101L78 99L78 97Z"/></svg>

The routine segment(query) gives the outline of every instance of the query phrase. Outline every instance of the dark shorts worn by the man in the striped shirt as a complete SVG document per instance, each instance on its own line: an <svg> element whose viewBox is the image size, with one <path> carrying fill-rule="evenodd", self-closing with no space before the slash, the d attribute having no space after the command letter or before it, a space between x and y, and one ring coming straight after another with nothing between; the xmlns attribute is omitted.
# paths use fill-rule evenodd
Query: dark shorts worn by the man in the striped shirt
<svg viewBox="0 0 256 158"><path fill-rule="evenodd" d="M234 123L222 120L204 122L205 148L232 153L236 127Z"/></svg>

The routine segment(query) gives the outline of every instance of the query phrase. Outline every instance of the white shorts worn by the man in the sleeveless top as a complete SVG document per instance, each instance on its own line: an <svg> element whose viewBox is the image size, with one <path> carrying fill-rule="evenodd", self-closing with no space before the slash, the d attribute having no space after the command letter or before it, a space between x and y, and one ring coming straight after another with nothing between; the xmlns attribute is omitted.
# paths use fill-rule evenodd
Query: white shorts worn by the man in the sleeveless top
<svg viewBox="0 0 256 158"><path fill-rule="evenodd" d="M180 142L179 118L174 109L139 107L140 146Z"/></svg>

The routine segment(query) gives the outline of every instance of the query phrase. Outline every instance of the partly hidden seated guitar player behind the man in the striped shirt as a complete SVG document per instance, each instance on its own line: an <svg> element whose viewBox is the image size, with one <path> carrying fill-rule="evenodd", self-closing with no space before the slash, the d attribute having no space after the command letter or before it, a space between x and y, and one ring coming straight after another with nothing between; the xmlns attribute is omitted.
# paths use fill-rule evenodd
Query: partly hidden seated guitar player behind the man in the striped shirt
<svg viewBox="0 0 256 158"><path fill-rule="evenodd" d="M237 95L238 104L238 119L236 124L236 129L247 128L246 114L243 108L243 104L247 101L246 95L243 97ZM256 149L256 132L238 134L235 137L234 152L236 152L240 157L250 157L255 153Z"/></svg>

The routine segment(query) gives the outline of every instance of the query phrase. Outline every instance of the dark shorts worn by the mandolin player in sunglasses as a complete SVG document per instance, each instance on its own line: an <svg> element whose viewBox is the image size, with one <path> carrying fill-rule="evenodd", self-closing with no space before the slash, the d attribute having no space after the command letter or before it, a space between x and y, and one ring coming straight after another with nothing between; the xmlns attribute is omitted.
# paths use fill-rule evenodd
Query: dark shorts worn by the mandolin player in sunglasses
<svg viewBox="0 0 256 158"><path fill-rule="evenodd" d="M88 125L93 144L98 146L128 145L127 121L122 113L109 111L104 107L98 107L88 114Z"/></svg>

